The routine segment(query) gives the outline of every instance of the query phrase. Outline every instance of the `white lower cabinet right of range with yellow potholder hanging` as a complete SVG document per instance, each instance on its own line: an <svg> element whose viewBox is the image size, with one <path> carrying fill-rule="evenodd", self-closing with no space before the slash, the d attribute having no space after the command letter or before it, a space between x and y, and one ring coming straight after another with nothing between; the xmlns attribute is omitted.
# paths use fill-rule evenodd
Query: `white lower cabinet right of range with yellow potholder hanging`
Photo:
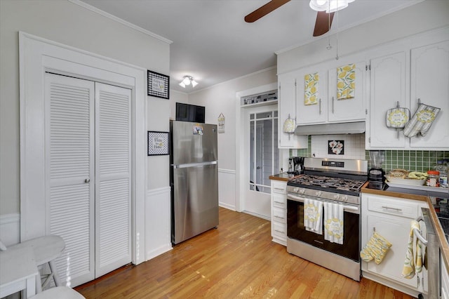
<svg viewBox="0 0 449 299"><path fill-rule="evenodd" d="M361 247L366 245L374 231L392 244L379 265L374 260L369 263L362 260L363 277L410 295L427 293L427 270L424 267L412 279L401 275L408 247L410 222L420 215L421 207L426 205L411 199L362 194Z"/></svg>

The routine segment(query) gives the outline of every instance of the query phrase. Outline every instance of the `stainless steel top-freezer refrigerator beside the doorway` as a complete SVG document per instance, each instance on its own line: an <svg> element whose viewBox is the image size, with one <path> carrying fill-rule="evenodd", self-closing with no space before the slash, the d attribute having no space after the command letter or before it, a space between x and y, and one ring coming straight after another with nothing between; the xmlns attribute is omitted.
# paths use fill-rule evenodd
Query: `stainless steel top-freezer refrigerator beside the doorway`
<svg viewBox="0 0 449 299"><path fill-rule="evenodd" d="M171 241L218 225L217 126L170 121Z"/></svg>

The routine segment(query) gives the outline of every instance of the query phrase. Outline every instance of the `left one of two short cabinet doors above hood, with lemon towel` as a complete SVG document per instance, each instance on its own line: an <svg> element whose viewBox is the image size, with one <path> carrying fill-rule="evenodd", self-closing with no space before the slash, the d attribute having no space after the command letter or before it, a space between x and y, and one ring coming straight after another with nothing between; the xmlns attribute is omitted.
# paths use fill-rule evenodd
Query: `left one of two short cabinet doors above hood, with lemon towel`
<svg viewBox="0 0 449 299"><path fill-rule="evenodd" d="M328 75L326 69L301 69L296 77L297 124L320 124L328 119Z"/></svg>

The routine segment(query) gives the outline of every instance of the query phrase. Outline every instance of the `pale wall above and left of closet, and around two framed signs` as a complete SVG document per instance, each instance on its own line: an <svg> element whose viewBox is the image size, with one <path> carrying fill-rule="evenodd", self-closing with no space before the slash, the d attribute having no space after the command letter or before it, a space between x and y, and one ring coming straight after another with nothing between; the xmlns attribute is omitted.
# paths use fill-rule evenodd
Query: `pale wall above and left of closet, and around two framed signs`
<svg viewBox="0 0 449 299"><path fill-rule="evenodd" d="M20 212L19 31L162 74L169 74L170 67L168 40L157 39L70 1L1 0L0 215ZM169 101L148 97L147 107L147 128L168 131ZM169 185L167 157L148 159L152 166L148 174L149 189ZM159 171L152 170L155 166Z"/></svg>

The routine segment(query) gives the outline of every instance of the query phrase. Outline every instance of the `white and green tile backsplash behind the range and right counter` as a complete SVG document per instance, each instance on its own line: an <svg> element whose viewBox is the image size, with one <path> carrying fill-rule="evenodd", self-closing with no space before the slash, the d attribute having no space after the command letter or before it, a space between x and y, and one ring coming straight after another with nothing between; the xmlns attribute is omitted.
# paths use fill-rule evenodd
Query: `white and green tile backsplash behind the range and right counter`
<svg viewBox="0 0 449 299"><path fill-rule="evenodd" d="M329 140L344 140L344 154L328 154ZM365 150L365 134L314 135L309 136L308 145L307 149L290 150L290 156L366 159L368 164L370 161L370 151ZM387 173L395 168L403 168L408 171L428 171L434 168L436 161L441 159L449 159L449 152L386 150L382 168Z"/></svg>

